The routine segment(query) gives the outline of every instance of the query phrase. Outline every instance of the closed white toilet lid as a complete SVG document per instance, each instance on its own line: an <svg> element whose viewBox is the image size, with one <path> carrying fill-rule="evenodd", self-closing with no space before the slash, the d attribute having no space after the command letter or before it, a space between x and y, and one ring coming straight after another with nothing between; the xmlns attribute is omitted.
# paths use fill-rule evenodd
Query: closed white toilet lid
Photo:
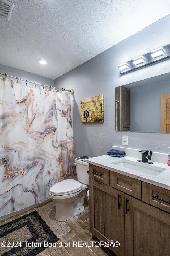
<svg viewBox="0 0 170 256"><path fill-rule="evenodd" d="M50 188L50 194L56 196L69 195L81 190L82 187L83 185L74 179L63 180Z"/></svg>

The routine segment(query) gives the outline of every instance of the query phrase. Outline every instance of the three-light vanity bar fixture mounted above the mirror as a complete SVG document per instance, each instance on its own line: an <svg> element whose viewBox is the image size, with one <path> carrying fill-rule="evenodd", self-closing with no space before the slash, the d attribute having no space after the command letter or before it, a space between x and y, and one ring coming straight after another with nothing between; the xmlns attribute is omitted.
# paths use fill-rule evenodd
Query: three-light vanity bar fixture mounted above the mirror
<svg viewBox="0 0 170 256"><path fill-rule="evenodd" d="M125 74L135 69L143 68L144 66L154 64L157 61L162 61L170 57L170 44L159 47L149 53L142 54L141 56L134 58L133 60L126 61L118 65L119 73Z"/></svg>

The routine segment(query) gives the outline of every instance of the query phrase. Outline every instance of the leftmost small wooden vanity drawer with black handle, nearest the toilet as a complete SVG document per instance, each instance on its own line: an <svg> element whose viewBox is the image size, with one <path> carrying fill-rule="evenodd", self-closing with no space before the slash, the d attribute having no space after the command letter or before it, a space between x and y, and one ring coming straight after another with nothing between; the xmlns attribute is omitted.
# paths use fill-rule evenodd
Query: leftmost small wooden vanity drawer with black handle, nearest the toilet
<svg viewBox="0 0 170 256"><path fill-rule="evenodd" d="M93 164L89 164L89 177L110 186L110 171Z"/></svg>

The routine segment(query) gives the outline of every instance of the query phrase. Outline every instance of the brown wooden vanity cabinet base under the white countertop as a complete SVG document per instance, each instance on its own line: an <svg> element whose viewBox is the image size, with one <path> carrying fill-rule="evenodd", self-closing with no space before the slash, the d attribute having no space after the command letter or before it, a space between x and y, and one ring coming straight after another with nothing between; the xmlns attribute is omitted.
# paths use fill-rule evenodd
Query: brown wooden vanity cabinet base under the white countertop
<svg viewBox="0 0 170 256"><path fill-rule="evenodd" d="M104 179L105 171L109 183ZM99 181L94 172L102 174L103 179ZM169 256L170 214L165 210L170 204L157 198L156 203L152 202L151 191L167 202L170 191L92 164L89 175L92 236L100 241L120 242L119 247L109 247L117 256Z"/></svg>

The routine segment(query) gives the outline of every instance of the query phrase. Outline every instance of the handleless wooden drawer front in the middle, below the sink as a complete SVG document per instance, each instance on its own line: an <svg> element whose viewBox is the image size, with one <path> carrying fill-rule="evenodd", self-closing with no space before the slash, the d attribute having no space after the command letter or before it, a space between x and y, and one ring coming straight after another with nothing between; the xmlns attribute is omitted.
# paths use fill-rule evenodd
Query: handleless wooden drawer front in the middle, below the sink
<svg viewBox="0 0 170 256"><path fill-rule="evenodd" d="M141 181L111 171L111 187L117 188L128 195L141 199Z"/></svg>

